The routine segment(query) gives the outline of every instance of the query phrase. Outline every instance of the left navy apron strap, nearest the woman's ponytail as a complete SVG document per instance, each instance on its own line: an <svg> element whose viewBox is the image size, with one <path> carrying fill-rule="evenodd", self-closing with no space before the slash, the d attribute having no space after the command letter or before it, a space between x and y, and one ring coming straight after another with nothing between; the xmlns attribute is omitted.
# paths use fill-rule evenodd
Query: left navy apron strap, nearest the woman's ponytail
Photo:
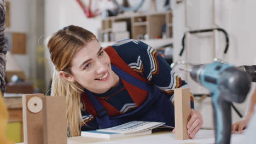
<svg viewBox="0 0 256 144"><path fill-rule="evenodd" d="M84 91L86 92L87 97L89 98L96 110L96 119L100 129L110 127L108 111L101 105L100 101L98 101L90 91L85 88Z"/></svg>

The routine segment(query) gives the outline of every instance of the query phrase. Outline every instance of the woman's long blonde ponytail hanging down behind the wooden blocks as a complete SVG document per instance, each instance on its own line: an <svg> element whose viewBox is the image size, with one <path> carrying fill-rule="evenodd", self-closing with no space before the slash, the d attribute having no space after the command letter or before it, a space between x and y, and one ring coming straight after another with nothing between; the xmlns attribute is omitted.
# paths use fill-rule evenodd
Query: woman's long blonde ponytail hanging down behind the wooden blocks
<svg viewBox="0 0 256 144"><path fill-rule="evenodd" d="M82 87L74 82L68 82L54 70L53 82L51 83L51 96L66 96L67 131L68 137L79 136L82 124L80 94Z"/></svg>

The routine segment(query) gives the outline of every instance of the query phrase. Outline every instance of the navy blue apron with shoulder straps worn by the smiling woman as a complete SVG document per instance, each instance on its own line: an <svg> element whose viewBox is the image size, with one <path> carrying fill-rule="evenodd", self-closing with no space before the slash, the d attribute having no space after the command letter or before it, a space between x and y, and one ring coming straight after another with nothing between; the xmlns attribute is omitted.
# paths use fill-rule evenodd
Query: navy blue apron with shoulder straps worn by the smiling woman
<svg viewBox="0 0 256 144"><path fill-rule="evenodd" d="M119 116L111 117L100 101L92 92L84 89L92 106L96 110L96 121L100 129L114 127L131 121L150 121L165 122L165 125L174 127L174 106L167 95L152 83L146 83L138 80L136 77L126 73L125 71L111 65L112 70L121 79L131 83L133 86L148 92L148 98L144 103L131 112L124 113Z"/></svg>

